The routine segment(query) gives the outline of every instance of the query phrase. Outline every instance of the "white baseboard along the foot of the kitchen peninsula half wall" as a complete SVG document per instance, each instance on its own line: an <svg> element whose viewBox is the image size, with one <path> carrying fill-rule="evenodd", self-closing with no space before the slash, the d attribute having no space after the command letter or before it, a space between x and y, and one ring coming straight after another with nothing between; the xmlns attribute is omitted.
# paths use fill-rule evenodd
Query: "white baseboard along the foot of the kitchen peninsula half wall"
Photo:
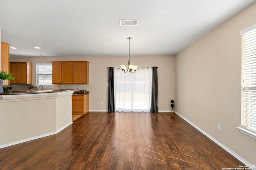
<svg viewBox="0 0 256 170"><path fill-rule="evenodd" d="M60 129L58 129L55 132L50 132L50 133L46 133L46 134L43 134L43 135L38 135L38 136L30 137L30 138L27 138L27 139L22 139L20 141L15 141L15 142L11 142L11 143L6 143L4 145L0 145L0 149L1 148L5 148L5 147L10 147L12 145L17 145L19 143L24 143L24 142L32 141L32 140L39 139L39 138L42 138L42 137L47 137L47 136L50 136L50 135L55 135L55 134L59 133L60 131L62 131L63 129L65 129L66 127L68 127L69 125L71 125L72 123L73 122L71 121L70 123L64 125L63 127L61 127Z"/></svg>

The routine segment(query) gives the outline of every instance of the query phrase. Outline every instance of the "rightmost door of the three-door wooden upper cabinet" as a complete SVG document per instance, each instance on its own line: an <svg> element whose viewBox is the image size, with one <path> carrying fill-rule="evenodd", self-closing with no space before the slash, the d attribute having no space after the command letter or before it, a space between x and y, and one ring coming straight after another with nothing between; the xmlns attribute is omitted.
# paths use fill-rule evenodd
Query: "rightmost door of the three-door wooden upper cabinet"
<svg viewBox="0 0 256 170"><path fill-rule="evenodd" d="M86 61L75 61L74 62L74 84L88 84L89 76ZM88 83L87 83L88 82Z"/></svg>

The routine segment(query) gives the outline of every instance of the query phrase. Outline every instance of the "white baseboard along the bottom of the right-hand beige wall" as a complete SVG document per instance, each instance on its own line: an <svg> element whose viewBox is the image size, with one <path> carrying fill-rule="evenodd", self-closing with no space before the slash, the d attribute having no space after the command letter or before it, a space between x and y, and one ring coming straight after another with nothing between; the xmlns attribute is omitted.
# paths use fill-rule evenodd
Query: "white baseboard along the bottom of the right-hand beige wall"
<svg viewBox="0 0 256 170"><path fill-rule="evenodd" d="M243 162L245 165L247 166L253 166L252 164L250 164L248 161L246 161L244 158L242 158L241 156L239 156L238 154L236 154L235 152L233 152L232 150L230 150L228 147L226 147L225 145L223 145L222 143L220 143L219 141L217 141L216 139L214 139L212 136L210 136L208 133L206 133L205 131L203 131L202 129L200 129L198 126L196 126L194 123L192 123L191 121L189 121L188 119L186 119L185 117L183 117L182 115L180 115L177 111L175 111L175 113L180 116L182 119L184 119L186 122L188 122L190 125L192 125L193 127L195 127L198 131L202 132L204 135L206 135L208 138L210 138L212 141L214 141L217 145L219 145L220 147L222 147L223 149L225 149L228 153L232 154L235 158L237 158L238 160L240 160L241 162ZM256 170L256 168L252 168L252 170Z"/></svg>

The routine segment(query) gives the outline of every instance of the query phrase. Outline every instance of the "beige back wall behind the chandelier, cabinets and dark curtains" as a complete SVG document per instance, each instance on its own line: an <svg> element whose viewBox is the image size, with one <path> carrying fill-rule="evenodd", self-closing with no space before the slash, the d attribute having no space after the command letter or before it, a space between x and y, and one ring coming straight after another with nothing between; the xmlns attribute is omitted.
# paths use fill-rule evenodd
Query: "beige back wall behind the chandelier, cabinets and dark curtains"
<svg viewBox="0 0 256 170"><path fill-rule="evenodd" d="M158 111L170 111L170 100L174 99L174 56L131 56L131 64L139 67L158 66ZM33 63L33 84L36 84L36 63L52 61L90 62L90 84L54 85L54 89L78 88L90 91L90 111L108 110L108 67L128 64L128 56L86 56L86 57L10 57L10 62L28 61ZM130 74L130 73L126 73ZM136 74L136 73L135 73ZM12 86L12 85L11 85ZM25 85L15 85L12 90L27 90ZM101 105L103 102L103 105Z"/></svg>

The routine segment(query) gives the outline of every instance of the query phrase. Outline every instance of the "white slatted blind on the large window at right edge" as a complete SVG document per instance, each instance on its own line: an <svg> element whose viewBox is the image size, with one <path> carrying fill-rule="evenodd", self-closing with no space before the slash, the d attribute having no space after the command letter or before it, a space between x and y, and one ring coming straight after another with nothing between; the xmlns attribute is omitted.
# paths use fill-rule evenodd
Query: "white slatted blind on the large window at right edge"
<svg viewBox="0 0 256 170"><path fill-rule="evenodd" d="M256 133L256 28L242 34L241 125Z"/></svg>

